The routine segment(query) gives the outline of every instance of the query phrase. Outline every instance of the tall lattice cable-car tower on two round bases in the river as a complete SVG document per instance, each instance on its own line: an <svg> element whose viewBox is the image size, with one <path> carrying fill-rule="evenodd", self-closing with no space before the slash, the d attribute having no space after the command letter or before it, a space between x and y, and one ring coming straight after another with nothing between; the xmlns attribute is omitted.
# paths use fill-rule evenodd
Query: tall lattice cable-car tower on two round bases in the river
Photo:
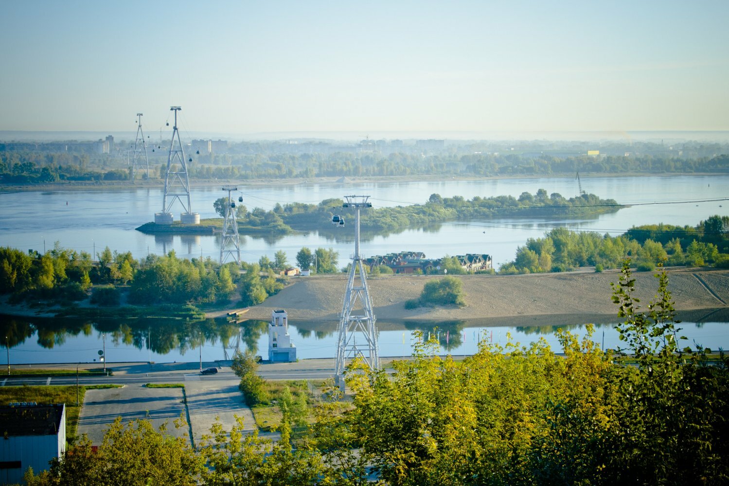
<svg viewBox="0 0 729 486"><path fill-rule="evenodd" d="M155 213L155 223L172 224L172 206L177 201L182 205L184 211L180 215L182 224L200 224L200 214L192 212L190 202L190 178L187 176L187 163L184 159L182 141L177 130L177 112L182 108L170 106L170 111L175 113L175 124L172 128L172 141L170 152L167 156L167 170L165 171L165 195L162 199L162 212ZM192 159L190 159L192 161ZM179 167L178 167L179 165ZM173 171L173 167L175 170Z"/></svg>

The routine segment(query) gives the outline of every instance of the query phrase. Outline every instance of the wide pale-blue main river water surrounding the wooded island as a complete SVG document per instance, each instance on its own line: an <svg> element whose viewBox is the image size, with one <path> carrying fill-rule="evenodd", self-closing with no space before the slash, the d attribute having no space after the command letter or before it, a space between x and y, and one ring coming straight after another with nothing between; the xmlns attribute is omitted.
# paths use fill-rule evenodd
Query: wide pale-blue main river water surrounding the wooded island
<svg viewBox="0 0 729 486"><path fill-rule="evenodd" d="M434 192L442 196L462 195L518 197L537 189L559 192L565 197L577 195L577 181L567 178L488 179L469 181L413 181L372 183L270 184L239 185L243 204L249 210L260 206L273 208L276 203L319 203L328 197L371 195L373 205L393 206L424 203ZM617 213L595 219L490 219L488 221L447 222L428 229L413 229L388 236L377 236L362 242L362 254L372 256L396 251L424 251L437 258L445 254L486 253L494 263L514 258L517 246L527 238L541 237L553 227L593 230L612 235L633 225L698 224L713 214L729 215L727 202L686 202L729 196L729 176L647 176L584 178L582 188L618 203L650 203L634 205ZM227 194L227 193L226 193ZM136 258L147 253L163 254L174 249L178 256L219 257L220 238L216 236L143 235L134 230L152 221L162 205L163 189L122 191L69 192L6 192L0 194L0 246L21 250L50 249L58 240L61 246L89 253L109 246L116 251L131 251ZM200 217L217 217L213 201L224 193L219 187L192 190L193 211ZM669 204L666 204L669 203ZM179 218L179 208L175 209ZM286 251L289 262L303 246L333 247L339 251L340 266L353 251L351 226L343 228L336 238L316 231L287 235L275 240L244 237L241 257L255 262L279 249Z"/></svg>

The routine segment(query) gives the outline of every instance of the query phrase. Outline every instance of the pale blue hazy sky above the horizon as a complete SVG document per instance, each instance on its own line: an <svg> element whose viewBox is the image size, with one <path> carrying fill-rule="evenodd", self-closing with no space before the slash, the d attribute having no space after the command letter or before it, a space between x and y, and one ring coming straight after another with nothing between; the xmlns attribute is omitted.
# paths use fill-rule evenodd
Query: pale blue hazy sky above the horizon
<svg viewBox="0 0 729 486"><path fill-rule="evenodd" d="M729 1L0 4L0 130L729 130Z"/></svg>

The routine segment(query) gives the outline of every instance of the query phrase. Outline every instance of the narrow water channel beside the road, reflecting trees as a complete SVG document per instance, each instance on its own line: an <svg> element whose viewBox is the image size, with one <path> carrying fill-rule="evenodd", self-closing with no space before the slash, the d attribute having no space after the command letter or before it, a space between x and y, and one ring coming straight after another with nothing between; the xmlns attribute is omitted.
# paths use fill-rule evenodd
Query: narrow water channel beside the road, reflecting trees
<svg viewBox="0 0 729 486"><path fill-rule="evenodd" d="M689 340L719 349L729 347L729 308L690 310L680 313L679 324ZM593 340L604 348L620 345L615 315L525 315L468 321L378 321L381 356L408 356L412 334L433 337L440 352L453 355L477 352L478 342L504 344L507 333L512 340L528 344L545 337L559 349L554 334L558 328L585 334L585 324L593 323ZM292 321L290 332L299 358L333 358L336 352L338 323L335 321ZM122 361L203 361L227 360L236 350L268 350L267 321L228 321L179 318L37 318L0 315L0 340L7 337L11 363L58 363L92 361L106 346L108 362ZM5 345L5 342L2 342ZM4 355L5 353L0 353ZM2 356L1 358L4 358ZM1 359L0 358L0 359Z"/></svg>

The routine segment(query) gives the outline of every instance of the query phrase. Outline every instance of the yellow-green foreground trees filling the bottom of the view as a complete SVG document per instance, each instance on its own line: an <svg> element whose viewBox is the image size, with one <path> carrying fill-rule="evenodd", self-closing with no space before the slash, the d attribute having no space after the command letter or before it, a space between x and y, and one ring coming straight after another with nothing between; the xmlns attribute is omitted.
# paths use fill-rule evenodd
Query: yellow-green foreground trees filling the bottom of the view
<svg viewBox="0 0 729 486"><path fill-rule="evenodd" d="M621 345L558 331L564 350L484 340L457 362L416 332L394 372L354 360L351 399L331 384L292 439L282 403L280 439L243 421L211 428L198 450L149 423L112 425L97 451L82 439L31 486L154 482L174 485L723 485L729 481L729 361L681 345L666 273L647 307L629 262L612 300ZM629 359L630 361L625 361ZM260 388L241 361L241 389ZM243 383L246 382L246 383ZM265 397L262 397L265 399ZM290 401L290 400L289 400ZM179 423L184 426L184 423ZM228 435L229 434L229 435ZM370 479L373 482L370 482Z"/></svg>

